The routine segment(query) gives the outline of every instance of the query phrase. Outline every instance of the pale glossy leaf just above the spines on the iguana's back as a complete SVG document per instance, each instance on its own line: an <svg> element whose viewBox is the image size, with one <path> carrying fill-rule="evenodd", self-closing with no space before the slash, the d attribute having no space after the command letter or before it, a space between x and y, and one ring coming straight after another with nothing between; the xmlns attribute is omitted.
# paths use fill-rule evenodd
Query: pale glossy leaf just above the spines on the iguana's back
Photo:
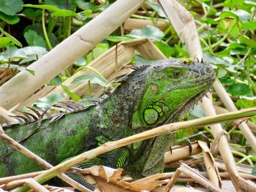
<svg viewBox="0 0 256 192"><path fill-rule="evenodd" d="M52 95L48 96L47 98L41 98L34 102L39 108L50 107L53 104L64 99L64 95L61 93L53 93Z"/></svg>

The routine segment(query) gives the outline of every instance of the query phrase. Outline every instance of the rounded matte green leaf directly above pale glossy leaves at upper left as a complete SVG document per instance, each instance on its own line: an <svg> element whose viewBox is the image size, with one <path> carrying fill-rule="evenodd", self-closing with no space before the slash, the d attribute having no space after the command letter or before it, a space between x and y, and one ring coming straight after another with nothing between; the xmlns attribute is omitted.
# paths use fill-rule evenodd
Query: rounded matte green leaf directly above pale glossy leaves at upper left
<svg viewBox="0 0 256 192"><path fill-rule="evenodd" d="M29 31L25 32L24 37L26 42L31 46L46 47L45 40L41 36L37 35L36 31L29 29Z"/></svg>

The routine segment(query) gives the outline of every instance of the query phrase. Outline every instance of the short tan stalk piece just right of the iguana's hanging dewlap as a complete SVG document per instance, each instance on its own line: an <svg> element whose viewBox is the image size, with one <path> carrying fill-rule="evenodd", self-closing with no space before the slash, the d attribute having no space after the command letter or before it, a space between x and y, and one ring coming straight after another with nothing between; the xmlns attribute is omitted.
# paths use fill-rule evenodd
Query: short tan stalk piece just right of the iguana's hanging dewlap
<svg viewBox="0 0 256 192"><path fill-rule="evenodd" d="M192 147L191 153L189 153L189 147L187 146L172 147L172 153L170 151L165 153L165 164L179 161L181 159L187 158L191 155L195 155L202 151L202 148L197 144L197 142L192 143L191 147Z"/></svg>

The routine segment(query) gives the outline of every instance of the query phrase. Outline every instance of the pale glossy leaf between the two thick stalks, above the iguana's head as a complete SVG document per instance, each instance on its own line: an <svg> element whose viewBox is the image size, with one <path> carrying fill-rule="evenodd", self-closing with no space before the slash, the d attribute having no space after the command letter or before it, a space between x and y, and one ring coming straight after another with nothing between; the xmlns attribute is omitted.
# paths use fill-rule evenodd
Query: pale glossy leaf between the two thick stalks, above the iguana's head
<svg viewBox="0 0 256 192"><path fill-rule="evenodd" d="M160 40L164 37L164 33L154 26L144 26L140 29L134 29L131 33L128 34L130 37L135 38L149 38L154 40Z"/></svg>

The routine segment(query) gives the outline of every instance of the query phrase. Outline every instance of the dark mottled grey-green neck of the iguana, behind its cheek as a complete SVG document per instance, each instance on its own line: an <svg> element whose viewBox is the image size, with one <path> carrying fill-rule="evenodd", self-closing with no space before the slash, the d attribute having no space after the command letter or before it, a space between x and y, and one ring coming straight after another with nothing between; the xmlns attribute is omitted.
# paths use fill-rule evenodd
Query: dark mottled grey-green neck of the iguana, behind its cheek
<svg viewBox="0 0 256 192"><path fill-rule="evenodd" d="M96 107L95 118L103 120L97 127L105 137L114 140L132 134L132 115L143 98L148 77L148 67L144 68L129 74L116 91Z"/></svg>

